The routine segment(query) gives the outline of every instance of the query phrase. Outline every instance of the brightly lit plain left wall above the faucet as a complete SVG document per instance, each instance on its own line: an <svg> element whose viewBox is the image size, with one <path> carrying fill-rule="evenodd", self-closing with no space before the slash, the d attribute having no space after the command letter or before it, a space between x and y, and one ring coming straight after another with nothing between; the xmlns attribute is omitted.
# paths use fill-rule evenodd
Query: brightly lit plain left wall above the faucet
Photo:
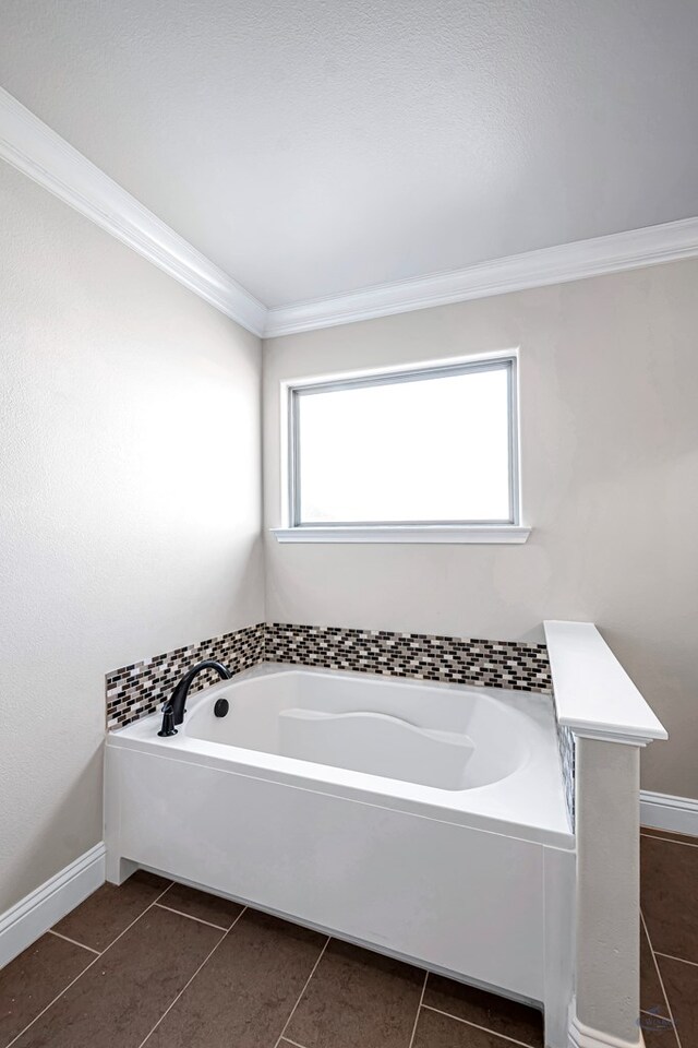
<svg viewBox="0 0 698 1048"><path fill-rule="evenodd" d="M0 913L99 842L104 675L264 618L260 343L0 165Z"/></svg>

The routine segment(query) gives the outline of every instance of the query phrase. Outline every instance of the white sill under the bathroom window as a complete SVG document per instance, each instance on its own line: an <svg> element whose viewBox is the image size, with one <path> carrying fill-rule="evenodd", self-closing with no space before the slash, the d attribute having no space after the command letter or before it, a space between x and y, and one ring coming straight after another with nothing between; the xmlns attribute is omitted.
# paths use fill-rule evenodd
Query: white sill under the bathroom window
<svg viewBox="0 0 698 1048"><path fill-rule="evenodd" d="M393 524L335 525L333 527L273 527L278 543L406 543L422 545L441 543L452 546L521 545L531 534L530 527L514 524Z"/></svg>

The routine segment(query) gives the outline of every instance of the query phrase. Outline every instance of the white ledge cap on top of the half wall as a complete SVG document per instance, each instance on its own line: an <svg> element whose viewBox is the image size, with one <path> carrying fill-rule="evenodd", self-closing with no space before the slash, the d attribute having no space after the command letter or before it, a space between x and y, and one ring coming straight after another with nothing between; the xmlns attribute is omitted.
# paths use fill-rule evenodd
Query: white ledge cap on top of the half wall
<svg viewBox="0 0 698 1048"><path fill-rule="evenodd" d="M575 735L647 746L669 738L592 622L544 622L557 719Z"/></svg>

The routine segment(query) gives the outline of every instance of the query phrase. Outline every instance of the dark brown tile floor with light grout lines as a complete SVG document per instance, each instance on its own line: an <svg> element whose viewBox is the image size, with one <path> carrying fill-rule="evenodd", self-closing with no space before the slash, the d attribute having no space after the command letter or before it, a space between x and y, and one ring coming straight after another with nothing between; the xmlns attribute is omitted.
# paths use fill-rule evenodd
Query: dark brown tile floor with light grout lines
<svg viewBox="0 0 698 1048"><path fill-rule="evenodd" d="M698 1048L698 838L642 831L647 1048ZM0 973L0 1048L542 1048L540 1013L135 873Z"/></svg>

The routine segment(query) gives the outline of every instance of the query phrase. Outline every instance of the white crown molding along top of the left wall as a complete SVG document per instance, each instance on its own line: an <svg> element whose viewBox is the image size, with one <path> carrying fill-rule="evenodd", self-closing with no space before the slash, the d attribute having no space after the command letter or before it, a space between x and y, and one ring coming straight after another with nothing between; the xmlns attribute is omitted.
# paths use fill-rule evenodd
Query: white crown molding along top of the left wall
<svg viewBox="0 0 698 1048"><path fill-rule="evenodd" d="M0 158L255 335L266 306L0 88Z"/></svg>

